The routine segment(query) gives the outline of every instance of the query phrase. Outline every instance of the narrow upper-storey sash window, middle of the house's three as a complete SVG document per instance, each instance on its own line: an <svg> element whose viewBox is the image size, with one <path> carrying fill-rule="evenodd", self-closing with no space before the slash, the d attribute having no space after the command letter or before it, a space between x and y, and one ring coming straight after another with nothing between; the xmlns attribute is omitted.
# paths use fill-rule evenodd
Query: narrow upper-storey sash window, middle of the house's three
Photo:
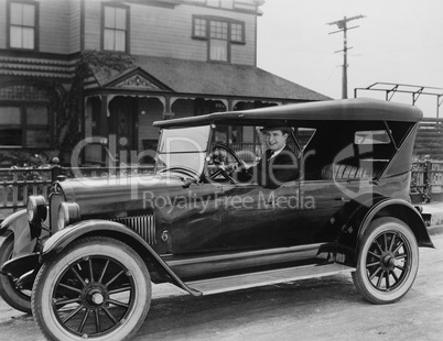
<svg viewBox="0 0 443 341"><path fill-rule="evenodd" d="M104 6L102 48L128 52L129 11L127 7Z"/></svg>

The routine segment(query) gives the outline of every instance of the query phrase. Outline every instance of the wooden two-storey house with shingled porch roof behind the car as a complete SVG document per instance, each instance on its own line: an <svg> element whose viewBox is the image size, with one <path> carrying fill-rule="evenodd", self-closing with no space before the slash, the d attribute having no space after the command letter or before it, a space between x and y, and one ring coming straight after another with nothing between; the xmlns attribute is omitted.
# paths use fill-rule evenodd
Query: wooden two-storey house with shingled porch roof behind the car
<svg viewBox="0 0 443 341"><path fill-rule="evenodd" d="M102 138L152 148L156 120L328 99L257 67L262 4L0 0L0 153L89 138L99 164Z"/></svg>

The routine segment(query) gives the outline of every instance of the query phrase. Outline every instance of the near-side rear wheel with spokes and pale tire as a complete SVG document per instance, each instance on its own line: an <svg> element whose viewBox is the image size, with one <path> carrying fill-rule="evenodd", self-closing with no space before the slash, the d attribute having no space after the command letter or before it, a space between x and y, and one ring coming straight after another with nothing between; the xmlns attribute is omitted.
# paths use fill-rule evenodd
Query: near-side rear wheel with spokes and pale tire
<svg viewBox="0 0 443 341"><path fill-rule="evenodd" d="M408 293L418 268L419 249L409 227L396 218L379 218L364 233L353 279L366 300L391 304Z"/></svg>

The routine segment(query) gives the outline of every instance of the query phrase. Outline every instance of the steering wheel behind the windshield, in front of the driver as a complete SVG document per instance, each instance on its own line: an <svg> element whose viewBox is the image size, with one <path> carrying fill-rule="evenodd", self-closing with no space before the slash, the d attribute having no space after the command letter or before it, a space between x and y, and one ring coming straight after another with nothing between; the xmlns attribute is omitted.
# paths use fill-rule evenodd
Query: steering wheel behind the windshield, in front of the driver
<svg viewBox="0 0 443 341"><path fill-rule="evenodd" d="M233 177L233 173L240 167L241 162L236 152L224 144L215 144L206 158L205 176L213 180L223 176L225 180L237 184L238 180Z"/></svg>

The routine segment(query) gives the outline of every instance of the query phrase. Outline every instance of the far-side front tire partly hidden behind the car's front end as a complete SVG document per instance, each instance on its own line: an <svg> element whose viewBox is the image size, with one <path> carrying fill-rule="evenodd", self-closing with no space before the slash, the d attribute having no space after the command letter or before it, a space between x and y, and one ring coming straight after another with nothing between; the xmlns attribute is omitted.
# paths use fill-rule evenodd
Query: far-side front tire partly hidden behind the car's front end
<svg viewBox="0 0 443 341"><path fill-rule="evenodd" d="M12 232L0 237L0 266L12 256L14 234ZM17 289L11 276L0 274L0 297L12 308L31 314L31 290Z"/></svg>

